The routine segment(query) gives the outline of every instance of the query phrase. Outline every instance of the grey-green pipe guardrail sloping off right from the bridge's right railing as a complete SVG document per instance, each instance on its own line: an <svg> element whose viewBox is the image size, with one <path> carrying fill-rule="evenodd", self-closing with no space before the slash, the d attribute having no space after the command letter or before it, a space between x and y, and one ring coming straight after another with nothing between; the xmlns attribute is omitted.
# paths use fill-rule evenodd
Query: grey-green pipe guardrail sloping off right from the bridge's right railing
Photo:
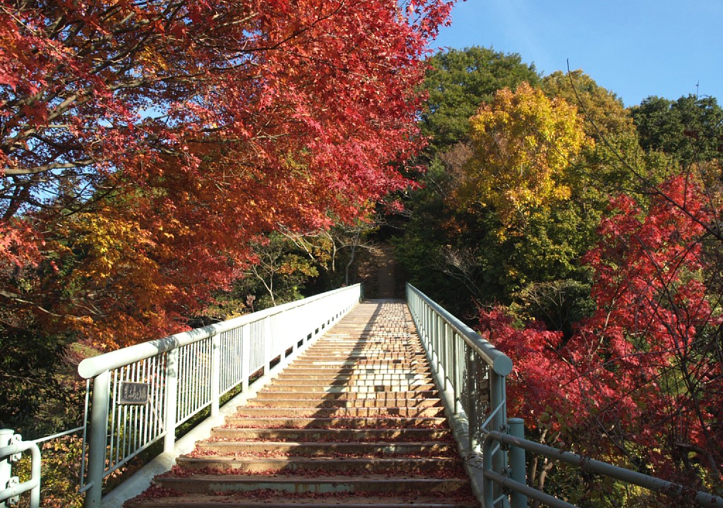
<svg viewBox="0 0 723 508"><path fill-rule="evenodd" d="M545 494L536 488L527 486L525 483L515 481L499 473L495 473L492 470L492 447L493 443L498 442L505 444L509 447L525 449L528 452L533 452L536 455L542 455L552 460L559 462L565 462L566 464L577 466L583 470L599 475L608 476L609 478L615 478L616 480L625 481L627 483L633 483L633 485L647 488L651 491L656 491L667 496L690 496L695 499L698 504L704 507L720 507L723 508L723 498L709 494L703 491L696 491L693 488L688 488L678 483L671 481L662 480L661 478L655 478L654 476L645 475L643 473L637 473L625 468L620 468L617 465L612 465L607 462L600 460L593 460L589 457L583 457L575 453L565 452L564 450L549 447L546 444L541 444L529 439L523 439L518 436L512 436L504 432L490 431L484 437L484 445L482 448L482 460L484 468L484 477L486 478L484 488L484 506L492 508L495 504L495 500L492 496L492 483L496 483L504 488L511 491L519 491L526 496L538 501L544 502L553 508L577 508L576 505L570 504L561 499L557 499L549 494Z"/></svg>

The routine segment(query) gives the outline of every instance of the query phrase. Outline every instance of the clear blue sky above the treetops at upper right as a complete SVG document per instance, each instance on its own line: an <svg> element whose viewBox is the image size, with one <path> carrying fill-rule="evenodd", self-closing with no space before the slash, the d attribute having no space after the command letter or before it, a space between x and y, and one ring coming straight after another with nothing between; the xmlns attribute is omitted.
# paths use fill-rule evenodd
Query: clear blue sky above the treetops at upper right
<svg viewBox="0 0 723 508"><path fill-rule="evenodd" d="M696 91L723 105L723 0L459 1L432 48L469 46L544 74L569 60L625 106Z"/></svg>

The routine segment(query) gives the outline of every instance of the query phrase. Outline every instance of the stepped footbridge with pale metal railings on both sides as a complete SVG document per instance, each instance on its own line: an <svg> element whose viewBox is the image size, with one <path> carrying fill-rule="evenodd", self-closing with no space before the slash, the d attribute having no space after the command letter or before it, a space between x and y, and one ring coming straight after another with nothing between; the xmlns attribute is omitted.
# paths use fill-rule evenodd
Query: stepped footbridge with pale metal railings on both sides
<svg viewBox="0 0 723 508"><path fill-rule="evenodd" d="M527 485L526 457L539 454L723 507L525 439L507 414L512 370L411 285L406 300L364 300L354 285L88 358L85 506L572 507ZM3 432L0 507L25 492L36 507L38 447ZM11 481L23 452L33 474Z"/></svg>

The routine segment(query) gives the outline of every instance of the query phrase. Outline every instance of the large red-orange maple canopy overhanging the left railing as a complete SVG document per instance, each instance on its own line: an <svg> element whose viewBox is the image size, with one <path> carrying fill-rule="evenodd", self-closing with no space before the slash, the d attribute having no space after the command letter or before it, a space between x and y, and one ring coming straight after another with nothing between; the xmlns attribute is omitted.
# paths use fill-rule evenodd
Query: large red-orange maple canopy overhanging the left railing
<svg viewBox="0 0 723 508"><path fill-rule="evenodd" d="M147 340L254 238L364 215L409 183L452 3L2 2L3 306L106 348Z"/></svg>

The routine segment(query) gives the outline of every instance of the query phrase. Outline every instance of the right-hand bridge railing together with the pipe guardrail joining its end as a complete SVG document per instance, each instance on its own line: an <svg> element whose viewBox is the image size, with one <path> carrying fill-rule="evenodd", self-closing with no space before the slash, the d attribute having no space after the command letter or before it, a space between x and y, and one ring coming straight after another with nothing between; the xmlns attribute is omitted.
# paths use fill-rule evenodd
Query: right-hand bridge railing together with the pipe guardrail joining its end
<svg viewBox="0 0 723 508"><path fill-rule="evenodd" d="M485 508L525 508L528 499L549 507L577 508L527 485L526 452L703 507L723 508L723 498L714 494L524 439L523 420L507 418L505 376L512 371L510 358L411 285L407 302L440 388L449 395L451 419L469 426L469 442L461 447L468 465L482 473L474 487Z"/></svg>

